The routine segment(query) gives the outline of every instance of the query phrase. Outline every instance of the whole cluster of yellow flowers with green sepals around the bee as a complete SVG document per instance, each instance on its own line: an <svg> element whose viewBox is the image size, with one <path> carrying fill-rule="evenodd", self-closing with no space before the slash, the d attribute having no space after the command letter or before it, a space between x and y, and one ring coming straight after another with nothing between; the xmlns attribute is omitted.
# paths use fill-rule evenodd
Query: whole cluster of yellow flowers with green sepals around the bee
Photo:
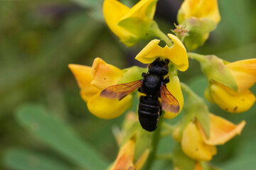
<svg viewBox="0 0 256 170"><path fill-rule="evenodd" d="M240 135L245 121L242 120L238 125L234 125L210 113L203 98L180 82L178 70L185 72L188 69L188 57L197 60L208 81L208 87L205 90L208 101L216 103L224 111L242 113L255 103L255 95L249 89L256 81L256 60L227 62L215 55L187 53L186 49L195 50L203 45L210 32L217 27L220 21L217 0L183 1L178 11L179 25L175 25L176 35L170 33L166 35L154 21L156 2L156 0L141 0L129 8L120 1L105 0L103 14L107 26L124 45L132 46L140 40L150 40L137 54L136 60L144 64L151 64L158 58L169 61L169 73L164 77L169 79L166 88L178 102L178 113L183 110L181 120L171 128L172 130L168 128L166 130L166 132L170 131L177 142L174 151L174 167L186 169L181 162L192 160L190 165L194 169L203 169L202 167L208 166L207 162L217 154L215 146L223 145L235 135ZM164 47L159 45L161 40L165 43ZM117 118L125 111L129 111L132 102L138 101L134 98L144 94L134 91L118 101L104 98L100 93L113 85L141 80L142 73L149 70L135 66L121 70L100 58L94 60L92 67L69 64L69 68L78 82L80 95L87 103L88 110L98 118L104 119ZM186 93L185 102L184 92ZM161 102L164 103L164 101ZM163 111L163 117L172 119L178 113ZM124 119L122 132L114 132L120 149L117 159L109 169L141 169L144 164L146 168L150 168L151 162L156 157L161 125L156 132L146 132L139 126L134 113L128 112L127 115L129 116ZM160 119L162 118L159 118L160 122L164 121ZM146 159L149 161L146 162Z"/></svg>

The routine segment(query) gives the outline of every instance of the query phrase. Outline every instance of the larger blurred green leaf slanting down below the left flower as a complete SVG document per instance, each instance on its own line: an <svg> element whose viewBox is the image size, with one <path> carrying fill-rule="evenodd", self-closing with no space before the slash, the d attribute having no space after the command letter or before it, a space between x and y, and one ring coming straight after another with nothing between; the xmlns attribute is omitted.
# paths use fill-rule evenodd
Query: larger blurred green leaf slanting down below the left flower
<svg viewBox="0 0 256 170"><path fill-rule="evenodd" d="M87 169L106 169L108 162L66 123L46 114L43 107L26 104L18 109L18 123L75 164ZM86 132L86 130L85 130Z"/></svg>

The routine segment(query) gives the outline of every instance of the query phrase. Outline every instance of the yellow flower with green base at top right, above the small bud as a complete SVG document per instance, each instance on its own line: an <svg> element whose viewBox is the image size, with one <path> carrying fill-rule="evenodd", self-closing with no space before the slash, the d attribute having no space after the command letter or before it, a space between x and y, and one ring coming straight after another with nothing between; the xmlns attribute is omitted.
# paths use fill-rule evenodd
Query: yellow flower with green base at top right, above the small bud
<svg viewBox="0 0 256 170"><path fill-rule="evenodd" d="M185 0L178 11L178 23L186 26L184 39L188 50L195 50L206 42L210 31L220 22L217 0Z"/></svg>

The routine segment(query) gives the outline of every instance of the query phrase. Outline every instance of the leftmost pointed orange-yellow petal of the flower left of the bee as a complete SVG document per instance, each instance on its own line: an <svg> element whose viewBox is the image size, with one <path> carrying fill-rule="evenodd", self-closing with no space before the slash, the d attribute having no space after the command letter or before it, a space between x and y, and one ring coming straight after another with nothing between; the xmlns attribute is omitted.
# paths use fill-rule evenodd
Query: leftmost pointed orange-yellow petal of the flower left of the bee
<svg viewBox="0 0 256 170"><path fill-rule="evenodd" d="M78 65L78 64L68 64L68 67L73 72L76 81L78 82L78 86L80 87L80 95L82 99L88 101L89 98L97 94L99 91L94 86L91 86L92 81L92 68Z"/></svg>

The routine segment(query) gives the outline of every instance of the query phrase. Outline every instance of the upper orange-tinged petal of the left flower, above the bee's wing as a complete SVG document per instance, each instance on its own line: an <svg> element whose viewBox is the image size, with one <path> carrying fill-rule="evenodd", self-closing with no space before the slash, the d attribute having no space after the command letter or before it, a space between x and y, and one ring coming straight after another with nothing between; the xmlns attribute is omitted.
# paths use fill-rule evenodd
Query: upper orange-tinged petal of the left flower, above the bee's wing
<svg viewBox="0 0 256 170"><path fill-rule="evenodd" d="M104 90L109 86L115 85L124 72L111 64L107 64L100 58L96 58L92 64L92 86L99 90Z"/></svg>

